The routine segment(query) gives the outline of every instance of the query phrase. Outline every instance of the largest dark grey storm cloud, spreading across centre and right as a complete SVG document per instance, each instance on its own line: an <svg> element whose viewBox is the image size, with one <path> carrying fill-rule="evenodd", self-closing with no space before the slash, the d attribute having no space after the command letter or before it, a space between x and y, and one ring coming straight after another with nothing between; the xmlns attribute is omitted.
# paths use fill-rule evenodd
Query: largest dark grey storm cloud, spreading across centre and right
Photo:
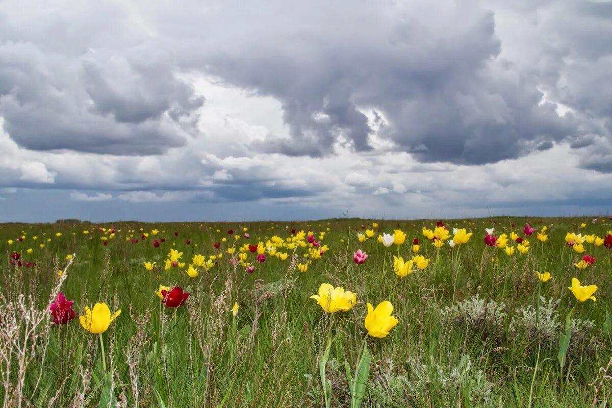
<svg viewBox="0 0 612 408"><path fill-rule="evenodd" d="M320 156L342 140L368 150L368 108L386 118L379 133L421 161L490 163L580 138L574 116L542 103L537 76L500 56L493 12L475 3L442 8L276 2L255 12L224 3L203 15L224 46L204 42L206 53L189 61L282 102L291 138L253 144L264 152ZM241 26L227 35L219 22L234 14ZM272 20L278 15L283 21Z"/></svg>

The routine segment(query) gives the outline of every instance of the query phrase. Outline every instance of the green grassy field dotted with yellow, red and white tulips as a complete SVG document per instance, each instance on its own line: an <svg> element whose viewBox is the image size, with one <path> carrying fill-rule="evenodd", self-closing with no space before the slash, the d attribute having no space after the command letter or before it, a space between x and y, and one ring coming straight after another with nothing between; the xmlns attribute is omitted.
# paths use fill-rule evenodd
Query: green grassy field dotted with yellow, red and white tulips
<svg viewBox="0 0 612 408"><path fill-rule="evenodd" d="M0 226L4 407L607 407L612 219Z"/></svg>

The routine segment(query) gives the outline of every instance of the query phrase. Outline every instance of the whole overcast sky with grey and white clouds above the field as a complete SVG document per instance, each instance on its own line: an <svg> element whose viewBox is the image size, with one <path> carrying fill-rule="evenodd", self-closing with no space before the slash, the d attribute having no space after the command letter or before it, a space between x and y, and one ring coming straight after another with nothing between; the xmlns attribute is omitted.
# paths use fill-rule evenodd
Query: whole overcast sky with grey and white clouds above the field
<svg viewBox="0 0 612 408"><path fill-rule="evenodd" d="M0 2L0 222L606 215L612 1Z"/></svg>

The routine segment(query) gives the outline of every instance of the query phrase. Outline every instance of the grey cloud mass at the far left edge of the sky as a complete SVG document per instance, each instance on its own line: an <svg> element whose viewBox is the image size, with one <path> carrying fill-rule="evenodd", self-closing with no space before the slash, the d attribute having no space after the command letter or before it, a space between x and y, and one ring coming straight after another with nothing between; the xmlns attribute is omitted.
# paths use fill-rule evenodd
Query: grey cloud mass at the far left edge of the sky
<svg viewBox="0 0 612 408"><path fill-rule="evenodd" d="M101 29L96 19L105 15L75 18L84 17ZM91 37L84 21L64 19L50 15L43 28L24 32L0 9L0 116L15 142L31 150L147 155L195 135L203 99L176 78L163 46L130 44L124 25L130 22L119 19L116 36L96 48L99 39L88 43L56 27L73 24ZM44 29L47 36L37 34ZM114 43L119 39L126 43Z"/></svg>

